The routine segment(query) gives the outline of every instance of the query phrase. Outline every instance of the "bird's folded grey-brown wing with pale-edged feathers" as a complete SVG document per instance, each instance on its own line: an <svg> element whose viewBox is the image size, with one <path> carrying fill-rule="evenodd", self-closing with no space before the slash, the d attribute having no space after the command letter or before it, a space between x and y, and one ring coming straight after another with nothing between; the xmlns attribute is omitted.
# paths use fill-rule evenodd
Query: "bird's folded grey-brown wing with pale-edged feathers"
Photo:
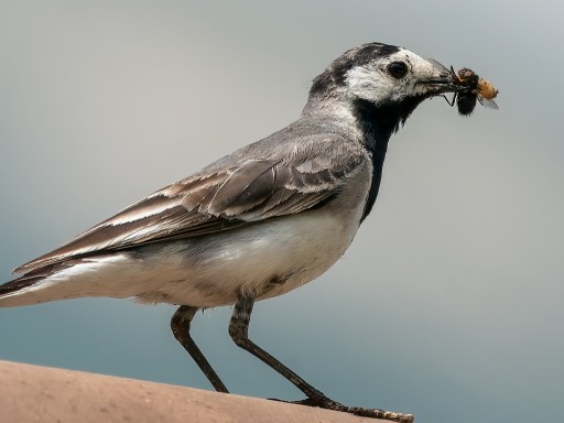
<svg viewBox="0 0 564 423"><path fill-rule="evenodd" d="M208 166L149 195L14 272L84 254L229 230L318 207L339 193L367 158L343 140L324 140L323 149L316 144L305 143L286 156L275 158L270 152L268 159L237 159L236 164L225 165L228 156L217 162L220 166Z"/></svg>

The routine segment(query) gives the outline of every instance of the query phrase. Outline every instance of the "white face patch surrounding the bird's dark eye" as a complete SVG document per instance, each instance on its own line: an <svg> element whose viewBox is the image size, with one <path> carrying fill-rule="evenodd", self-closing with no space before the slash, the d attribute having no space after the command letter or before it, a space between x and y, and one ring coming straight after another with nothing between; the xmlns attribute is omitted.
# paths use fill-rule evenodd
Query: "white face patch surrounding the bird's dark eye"
<svg viewBox="0 0 564 423"><path fill-rule="evenodd" d="M404 78L397 79L388 73L387 67L392 62L408 65L409 70ZM378 105L424 94L424 87L416 82L432 76L437 76L432 63L400 47L393 54L352 67L346 74L346 82L352 95Z"/></svg>

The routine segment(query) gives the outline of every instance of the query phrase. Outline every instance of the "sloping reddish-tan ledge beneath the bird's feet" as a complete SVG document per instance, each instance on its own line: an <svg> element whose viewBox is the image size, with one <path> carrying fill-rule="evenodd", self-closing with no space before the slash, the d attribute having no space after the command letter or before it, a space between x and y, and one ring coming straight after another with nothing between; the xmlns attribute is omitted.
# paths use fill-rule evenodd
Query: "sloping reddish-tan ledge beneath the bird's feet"
<svg viewBox="0 0 564 423"><path fill-rule="evenodd" d="M0 422L384 421L257 398L0 361Z"/></svg>

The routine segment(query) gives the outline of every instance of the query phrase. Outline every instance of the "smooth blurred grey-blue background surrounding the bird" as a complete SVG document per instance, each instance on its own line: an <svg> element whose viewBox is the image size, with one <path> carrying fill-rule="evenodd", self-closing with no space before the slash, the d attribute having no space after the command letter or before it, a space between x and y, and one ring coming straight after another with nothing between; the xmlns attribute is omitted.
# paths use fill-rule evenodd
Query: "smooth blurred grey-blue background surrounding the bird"
<svg viewBox="0 0 564 423"><path fill-rule="evenodd" d="M441 98L390 143L377 205L318 280L258 303L251 338L327 395L417 422L554 421L564 398L564 68L557 2L0 1L0 281L140 197L294 120L369 41L500 90ZM170 305L0 310L0 359L210 389ZM301 393L227 334L193 334L235 393Z"/></svg>

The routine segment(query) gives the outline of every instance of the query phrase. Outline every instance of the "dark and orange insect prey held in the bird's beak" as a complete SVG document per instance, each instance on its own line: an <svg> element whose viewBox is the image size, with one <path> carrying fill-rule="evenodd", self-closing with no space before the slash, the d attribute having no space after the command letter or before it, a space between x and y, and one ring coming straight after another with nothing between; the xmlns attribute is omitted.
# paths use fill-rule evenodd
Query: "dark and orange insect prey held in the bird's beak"
<svg viewBox="0 0 564 423"><path fill-rule="evenodd" d="M462 116L469 116L476 108L476 100L484 107L497 109L498 105L494 98L498 95L498 90L484 78L480 78L474 70L463 67L458 73L454 72L451 66L451 74L453 78L463 87L467 88L454 95L451 106L454 106L456 99L456 107L458 113Z"/></svg>

